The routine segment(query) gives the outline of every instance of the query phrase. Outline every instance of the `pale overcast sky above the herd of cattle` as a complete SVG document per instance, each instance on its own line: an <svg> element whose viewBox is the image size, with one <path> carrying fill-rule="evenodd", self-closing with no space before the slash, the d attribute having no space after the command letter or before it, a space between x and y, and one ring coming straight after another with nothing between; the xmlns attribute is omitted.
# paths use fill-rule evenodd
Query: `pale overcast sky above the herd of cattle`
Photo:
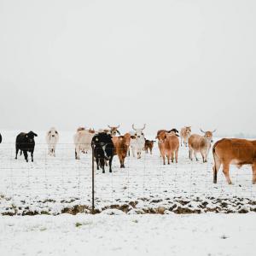
<svg viewBox="0 0 256 256"><path fill-rule="evenodd" d="M256 1L0 0L0 130L256 134Z"/></svg>

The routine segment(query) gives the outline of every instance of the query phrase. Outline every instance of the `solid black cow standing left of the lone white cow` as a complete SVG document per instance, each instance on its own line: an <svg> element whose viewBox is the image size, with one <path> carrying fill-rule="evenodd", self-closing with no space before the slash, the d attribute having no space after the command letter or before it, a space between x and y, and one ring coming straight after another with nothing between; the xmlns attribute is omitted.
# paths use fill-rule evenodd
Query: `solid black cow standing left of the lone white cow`
<svg viewBox="0 0 256 256"><path fill-rule="evenodd" d="M21 151L20 154L23 152L25 160L27 160L27 152L31 153L31 159L33 161L33 153L35 148L35 140L34 137L38 137L36 133L33 131L29 131L28 133L20 132L20 134L16 137L16 157L19 153L19 150Z"/></svg>

